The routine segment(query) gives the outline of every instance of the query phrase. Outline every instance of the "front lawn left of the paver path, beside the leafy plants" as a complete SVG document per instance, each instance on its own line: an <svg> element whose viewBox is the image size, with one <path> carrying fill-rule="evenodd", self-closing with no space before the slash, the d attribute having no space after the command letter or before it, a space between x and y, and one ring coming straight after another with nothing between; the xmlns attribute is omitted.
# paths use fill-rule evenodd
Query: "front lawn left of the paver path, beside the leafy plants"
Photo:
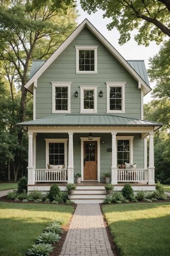
<svg viewBox="0 0 170 256"><path fill-rule="evenodd" d="M74 207L0 202L0 256L25 256L47 224L62 218L67 224Z"/></svg>

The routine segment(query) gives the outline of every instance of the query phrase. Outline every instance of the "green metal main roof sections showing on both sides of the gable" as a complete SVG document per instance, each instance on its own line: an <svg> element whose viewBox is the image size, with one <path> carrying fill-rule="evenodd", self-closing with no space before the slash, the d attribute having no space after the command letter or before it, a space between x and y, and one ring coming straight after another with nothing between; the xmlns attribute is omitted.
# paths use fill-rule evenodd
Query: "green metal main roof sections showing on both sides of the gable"
<svg viewBox="0 0 170 256"><path fill-rule="evenodd" d="M149 85L149 80L147 77L147 71L144 64L144 60L128 60L127 61L131 67L141 76L147 85ZM39 68L45 63L44 60L34 60L32 62L29 79L39 70ZM150 85L149 85L150 86Z"/></svg>

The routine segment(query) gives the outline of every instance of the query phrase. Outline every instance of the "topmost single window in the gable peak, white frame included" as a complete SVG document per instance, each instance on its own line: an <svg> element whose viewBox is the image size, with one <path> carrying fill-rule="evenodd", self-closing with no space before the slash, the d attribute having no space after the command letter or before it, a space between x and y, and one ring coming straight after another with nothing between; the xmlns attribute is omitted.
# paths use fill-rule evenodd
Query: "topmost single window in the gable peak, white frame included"
<svg viewBox="0 0 170 256"><path fill-rule="evenodd" d="M75 46L76 73L97 73L97 46Z"/></svg>

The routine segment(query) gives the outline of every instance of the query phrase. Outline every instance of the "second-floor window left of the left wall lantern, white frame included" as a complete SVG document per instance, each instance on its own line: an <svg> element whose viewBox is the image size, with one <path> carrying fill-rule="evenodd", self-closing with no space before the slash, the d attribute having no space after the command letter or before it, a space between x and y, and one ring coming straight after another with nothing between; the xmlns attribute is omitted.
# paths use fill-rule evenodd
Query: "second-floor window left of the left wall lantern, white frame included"
<svg viewBox="0 0 170 256"><path fill-rule="evenodd" d="M70 113L71 82L51 82L52 113Z"/></svg>

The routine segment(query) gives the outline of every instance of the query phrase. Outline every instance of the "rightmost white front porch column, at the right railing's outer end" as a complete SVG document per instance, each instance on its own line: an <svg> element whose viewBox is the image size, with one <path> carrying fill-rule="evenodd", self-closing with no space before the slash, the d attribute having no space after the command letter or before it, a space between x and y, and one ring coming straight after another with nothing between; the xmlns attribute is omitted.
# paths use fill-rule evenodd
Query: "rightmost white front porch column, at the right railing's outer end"
<svg viewBox="0 0 170 256"><path fill-rule="evenodd" d="M155 167L154 167L154 146L153 146L153 132L149 133L149 170L148 170L148 184L155 184Z"/></svg>

